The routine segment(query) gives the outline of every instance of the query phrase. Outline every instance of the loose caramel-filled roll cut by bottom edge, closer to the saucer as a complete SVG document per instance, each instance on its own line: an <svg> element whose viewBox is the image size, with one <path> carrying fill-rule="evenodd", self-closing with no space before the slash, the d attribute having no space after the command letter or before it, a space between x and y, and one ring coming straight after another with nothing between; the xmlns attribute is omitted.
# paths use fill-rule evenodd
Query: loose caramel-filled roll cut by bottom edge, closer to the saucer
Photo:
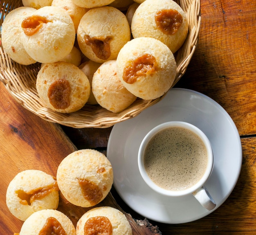
<svg viewBox="0 0 256 235"><path fill-rule="evenodd" d="M132 228L120 210L110 206L93 208L76 224L76 235L85 234L132 235Z"/></svg>

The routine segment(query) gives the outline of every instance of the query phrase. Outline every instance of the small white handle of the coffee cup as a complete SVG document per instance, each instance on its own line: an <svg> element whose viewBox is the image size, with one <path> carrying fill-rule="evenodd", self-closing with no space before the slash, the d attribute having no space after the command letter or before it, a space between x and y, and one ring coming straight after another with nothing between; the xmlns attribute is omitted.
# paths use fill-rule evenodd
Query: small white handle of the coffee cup
<svg viewBox="0 0 256 235"><path fill-rule="evenodd" d="M204 186L202 186L192 194L200 202L200 204L207 210L212 210L213 208L215 208L216 203L209 194L207 188L205 188Z"/></svg>

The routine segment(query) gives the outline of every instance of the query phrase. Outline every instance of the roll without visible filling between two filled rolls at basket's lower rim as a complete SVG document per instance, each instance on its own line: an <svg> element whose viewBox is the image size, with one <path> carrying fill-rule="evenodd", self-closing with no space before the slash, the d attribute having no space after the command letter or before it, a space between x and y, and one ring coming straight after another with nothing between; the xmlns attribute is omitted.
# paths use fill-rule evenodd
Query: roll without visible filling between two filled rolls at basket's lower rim
<svg viewBox="0 0 256 235"><path fill-rule="evenodd" d="M92 92L99 105L115 113L126 109L137 98L117 76L116 60L108 60L97 69L92 78Z"/></svg>

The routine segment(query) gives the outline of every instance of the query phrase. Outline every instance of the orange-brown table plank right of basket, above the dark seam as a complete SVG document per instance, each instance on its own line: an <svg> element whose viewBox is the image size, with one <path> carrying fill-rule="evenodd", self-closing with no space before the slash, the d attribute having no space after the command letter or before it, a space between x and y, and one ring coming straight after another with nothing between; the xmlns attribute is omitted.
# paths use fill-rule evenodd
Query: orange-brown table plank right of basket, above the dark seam
<svg viewBox="0 0 256 235"><path fill-rule="evenodd" d="M201 0L198 47L176 85L217 101L241 135L256 132L255 12L255 1Z"/></svg>

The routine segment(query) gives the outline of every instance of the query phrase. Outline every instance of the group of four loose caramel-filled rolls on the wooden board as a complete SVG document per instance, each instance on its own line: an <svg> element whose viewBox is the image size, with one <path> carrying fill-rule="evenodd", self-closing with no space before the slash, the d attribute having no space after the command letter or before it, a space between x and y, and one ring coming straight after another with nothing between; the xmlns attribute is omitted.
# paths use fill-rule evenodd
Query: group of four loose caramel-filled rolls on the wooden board
<svg viewBox="0 0 256 235"><path fill-rule="evenodd" d="M15 217L24 221L20 235L132 235L130 223L121 211L97 206L112 184L112 165L104 154L92 149L77 150L62 160L56 177L41 170L19 172L9 183L6 204ZM59 191L69 203L88 208L77 218L76 225L68 212L58 211Z"/></svg>

